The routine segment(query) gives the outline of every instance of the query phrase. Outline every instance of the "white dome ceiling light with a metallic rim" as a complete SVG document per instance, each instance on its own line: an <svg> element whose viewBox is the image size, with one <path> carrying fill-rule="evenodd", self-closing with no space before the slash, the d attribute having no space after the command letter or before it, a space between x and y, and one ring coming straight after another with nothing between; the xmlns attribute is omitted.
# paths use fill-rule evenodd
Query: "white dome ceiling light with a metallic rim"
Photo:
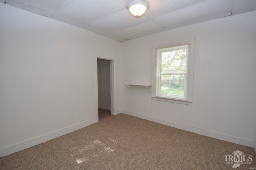
<svg viewBox="0 0 256 170"><path fill-rule="evenodd" d="M140 18L148 9L149 4L143 0L134 0L127 4L128 10L131 14L136 17Z"/></svg>

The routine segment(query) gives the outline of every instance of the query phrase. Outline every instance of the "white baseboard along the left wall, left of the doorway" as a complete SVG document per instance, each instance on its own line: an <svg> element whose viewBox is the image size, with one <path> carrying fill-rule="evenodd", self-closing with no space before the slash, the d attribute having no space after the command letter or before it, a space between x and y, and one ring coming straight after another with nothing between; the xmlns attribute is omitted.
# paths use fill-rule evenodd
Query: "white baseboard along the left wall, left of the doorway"
<svg viewBox="0 0 256 170"><path fill-rule="evenodd" d="M65 127L63 129L59 129L57 131L47 133L45 135L34 137L32 139L28 139L26 141L22 141L22 142L14 144L14 145L0 148L0 157L7 156L9 154L13 154L15 152L39 145L41 143L44 143L44 142L54 139L56 137L60 137L62 135L66 135L70 132L76 131L78 129L81 129L83 127L86 127L86 126L91 125L96 122L98 122L96 119L90 119L88 121L77 123L75 125L71 125L69 127Z"/></svg>

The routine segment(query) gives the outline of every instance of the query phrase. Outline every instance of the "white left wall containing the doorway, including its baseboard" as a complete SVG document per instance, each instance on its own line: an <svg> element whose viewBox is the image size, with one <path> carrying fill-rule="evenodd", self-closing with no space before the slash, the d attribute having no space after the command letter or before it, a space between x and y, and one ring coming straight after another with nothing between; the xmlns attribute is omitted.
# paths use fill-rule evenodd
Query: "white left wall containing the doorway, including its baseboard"
<svg viewBox="0 0 256 170"><path fill-rule="evenodd" d="M115 61L121 108L120 42L2 3L0 15L0 156L98 121L93 53Z"/></svg>

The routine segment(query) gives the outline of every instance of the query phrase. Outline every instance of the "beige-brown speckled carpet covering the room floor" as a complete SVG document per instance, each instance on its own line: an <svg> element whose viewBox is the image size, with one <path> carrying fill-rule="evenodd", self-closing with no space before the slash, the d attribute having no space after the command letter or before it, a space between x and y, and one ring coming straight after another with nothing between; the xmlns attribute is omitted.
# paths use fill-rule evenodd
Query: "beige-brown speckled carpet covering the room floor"
<svg viewBox="0 0 256 170"><path fill-rule="evenodd" d="M240 150L252 164L226 164ZM99 109L99 122L0 158L0 170L249 170L253 148Z"/></svg>

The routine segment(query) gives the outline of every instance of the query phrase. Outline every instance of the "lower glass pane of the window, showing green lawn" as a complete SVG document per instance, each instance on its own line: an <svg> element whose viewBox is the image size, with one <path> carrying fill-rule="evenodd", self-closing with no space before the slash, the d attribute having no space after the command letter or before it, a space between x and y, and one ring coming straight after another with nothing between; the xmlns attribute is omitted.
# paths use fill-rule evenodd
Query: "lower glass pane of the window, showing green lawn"
<svg viewBox="0 0 256 170"><path fill-rule="evenodd" d="M184 97L184 74L161 75L161 95Z"/></svg>

